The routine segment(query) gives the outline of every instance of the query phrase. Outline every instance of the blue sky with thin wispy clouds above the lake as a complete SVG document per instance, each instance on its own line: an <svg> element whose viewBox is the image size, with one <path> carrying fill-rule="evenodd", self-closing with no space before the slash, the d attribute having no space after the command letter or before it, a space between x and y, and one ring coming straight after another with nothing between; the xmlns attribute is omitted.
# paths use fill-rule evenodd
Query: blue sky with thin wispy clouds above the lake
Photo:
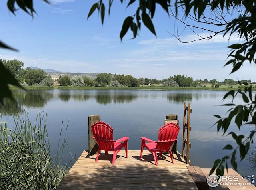
<svg viewBox="0 0 256 190"><path fill-rule="evenodd" d="M229 44L238 38L216 36L182 44L174 36L183 25L168 17L157 7L153 19L157 38L144 26L140 36L131 40L128 32L120 41L119 33L127 16L134 14L134 6L114 1L112 12L106 12L104 25L95 12L87 15L94 0L54 0L51 5L34 0L37 15L18 10L14 16L6 1L0 2L0 40L18 52L0 49L0 59L18 59L24 67L55 69L72 73L116 73L135 78L164 79L186 75L196 79L251 79L256 81L254 65L245 64L229 75L232 67L223 67ZM128 1L127 1L128 2ZM108 5L108 1L105 2ZM106 7L107 9L107 7ZM195 39L189 30L182 40ZM249 78L248 78L249 76Z"/></svg>

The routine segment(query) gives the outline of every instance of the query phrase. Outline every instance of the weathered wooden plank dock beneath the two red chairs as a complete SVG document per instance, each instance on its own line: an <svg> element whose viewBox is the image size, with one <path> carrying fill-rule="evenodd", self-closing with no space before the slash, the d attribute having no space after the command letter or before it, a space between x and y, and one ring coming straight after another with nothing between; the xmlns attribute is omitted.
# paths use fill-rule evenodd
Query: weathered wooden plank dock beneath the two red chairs
<svg viewBox="0 0 256 190"><path fill-rule="evenodd" d="M125 151L121 150L114 165L111 163L111 153L105 156L103 151L98 162L95 162L96 154L88 154L84 151L57 190L197 190L198 184L199 189L206 187L206 181L203 185L202 182L196 181L204 180L200 176L203 172L194 170L192 166L188 170L189 165L184 162L180 154L173 155L174 164L169 154L163 154L162 158L158 156L158 166L156 166L152 154L147 150L144 150L142 159L140 159L140 150L128 150L128 158L125 157ZM206 179L206 176L204 177ZM212 189L232 188L218 186Z"/></svg>

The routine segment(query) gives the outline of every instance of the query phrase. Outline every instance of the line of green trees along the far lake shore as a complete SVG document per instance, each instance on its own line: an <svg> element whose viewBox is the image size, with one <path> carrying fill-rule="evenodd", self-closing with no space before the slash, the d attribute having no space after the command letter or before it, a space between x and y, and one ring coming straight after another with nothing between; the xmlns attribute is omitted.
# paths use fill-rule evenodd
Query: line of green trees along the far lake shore
<svg viewBox="0 0 256 190"><path fill-rule="evenodd" d="M16 78L21 85L43 85L51 86L54 85L54 80L47 75L42 69L31 69L27 67L23 69L24 63L22 61L4 60L1 59L4 66L10 71L10 73ZM225 79L220 82L217 79L196 79L187 77L185 75L174 75L169 78L158 80L148 78L134 78L132 75L124 74L111 74L111 73L100 73L95 79L90 79L86 76L74 76L70 78L67 75L60 76L55 82L61 86L102 86L102 87L138 87L140 85L162 85L169 87L206 87L205 84L210 83L211 87L218 88L220 85L238 85L239 83L251 83L256 84L249 80L234 81L233 79Z"/></svg>

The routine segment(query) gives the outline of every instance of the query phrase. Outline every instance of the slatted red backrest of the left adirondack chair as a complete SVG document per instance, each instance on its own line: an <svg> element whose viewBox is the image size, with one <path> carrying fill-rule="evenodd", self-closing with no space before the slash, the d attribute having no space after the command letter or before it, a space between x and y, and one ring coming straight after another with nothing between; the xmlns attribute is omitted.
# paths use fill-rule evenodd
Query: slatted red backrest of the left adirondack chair
<svg viewBox="0 0 256 190"><path fill-rule="evenodd" d="M97 121L91 126L92 134L102 150L113 151L113 128L104 121Z"/></svg>

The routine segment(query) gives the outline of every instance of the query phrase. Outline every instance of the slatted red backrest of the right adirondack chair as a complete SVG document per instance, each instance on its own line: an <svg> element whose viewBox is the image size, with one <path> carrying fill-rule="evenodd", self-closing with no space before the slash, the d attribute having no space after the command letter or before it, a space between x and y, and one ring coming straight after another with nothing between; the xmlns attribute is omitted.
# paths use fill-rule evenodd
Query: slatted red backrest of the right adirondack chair
<svg viewBox="0 0 256 190"><path fill-rule="evenodd" d="M158 132L158 141L156 149L166 151L177 140L180 127L176 123L167 123L163 125Z"/></svg>

